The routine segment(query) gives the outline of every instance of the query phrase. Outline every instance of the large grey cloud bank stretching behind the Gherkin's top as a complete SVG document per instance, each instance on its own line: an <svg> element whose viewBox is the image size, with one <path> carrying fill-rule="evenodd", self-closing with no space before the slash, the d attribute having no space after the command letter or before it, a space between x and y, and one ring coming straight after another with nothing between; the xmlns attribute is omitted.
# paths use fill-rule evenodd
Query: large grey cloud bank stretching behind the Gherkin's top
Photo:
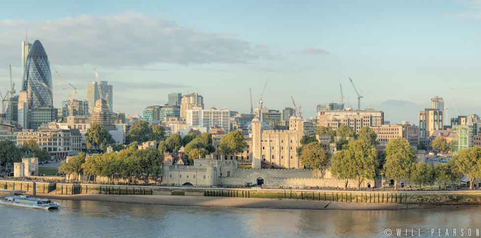
<svg viewBox="0 0 481 238"><path fill-rule="evenodd" d="M20 41L42 42L55 65L148 66L156 63L245 63L274 59L269 47L232 34L179 26L175 21L136 12L53 21L0 21L0 63L20 57ZM5 49L5 50L3 50ZM6 63L8 64L8 63Z"/></svg>

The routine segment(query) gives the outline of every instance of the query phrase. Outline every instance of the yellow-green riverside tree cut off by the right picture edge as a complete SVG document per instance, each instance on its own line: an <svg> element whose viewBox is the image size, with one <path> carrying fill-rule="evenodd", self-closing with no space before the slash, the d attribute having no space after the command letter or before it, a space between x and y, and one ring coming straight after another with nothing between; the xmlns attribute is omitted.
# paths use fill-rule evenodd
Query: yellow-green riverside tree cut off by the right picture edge
<svg viewBox="0 0 481 238"><path fill-rule="evenodd" d="M453 156L450 164L455 174L465 174L469 178L469 189L473 189L473 182L481 178L481 147L474 146L460 150Z"/></svg>

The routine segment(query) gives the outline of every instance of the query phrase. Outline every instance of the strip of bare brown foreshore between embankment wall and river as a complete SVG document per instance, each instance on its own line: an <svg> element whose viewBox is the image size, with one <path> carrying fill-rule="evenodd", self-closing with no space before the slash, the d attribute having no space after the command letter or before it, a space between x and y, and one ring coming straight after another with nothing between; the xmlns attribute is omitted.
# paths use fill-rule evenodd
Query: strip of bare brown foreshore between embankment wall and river
<svg viewBox="0 0 481 238"><path fill-rule="evenodd" d="M37 194L39 198L103 201L127 204L146 204L163 206L193 206L219 208L259 208L259 209L300 209L300 210L403 210L434 208L430 205L413 204L372 204L346 203L331 201L312 201L298 199L266 199L266 198L236 198L236 197L199 197L170 195L51 195Z"/></svg>

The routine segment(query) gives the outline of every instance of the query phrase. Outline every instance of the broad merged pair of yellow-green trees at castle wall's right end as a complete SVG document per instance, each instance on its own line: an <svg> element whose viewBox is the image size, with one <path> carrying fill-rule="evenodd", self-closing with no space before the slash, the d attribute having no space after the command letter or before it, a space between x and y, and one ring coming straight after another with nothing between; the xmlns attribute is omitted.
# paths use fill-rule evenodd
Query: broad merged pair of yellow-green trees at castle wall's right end
<svg viewBox="0 0 481 238"><path fill-rule="evenodd" d="M355 179L357 189L366 179L374 179L377 175L377 150L364 140L350 140L343 153L332 158L331 173L339 178ZM337 155L336 154L336 155ZM347 184L345 184L347 189Z"/></svg>

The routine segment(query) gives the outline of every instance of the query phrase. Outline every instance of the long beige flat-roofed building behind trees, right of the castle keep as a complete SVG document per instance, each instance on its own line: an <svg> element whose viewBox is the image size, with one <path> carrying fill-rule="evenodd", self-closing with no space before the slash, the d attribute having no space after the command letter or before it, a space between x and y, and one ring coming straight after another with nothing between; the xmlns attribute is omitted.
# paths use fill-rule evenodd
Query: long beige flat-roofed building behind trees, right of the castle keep
<svg viewBox="0 0 481 238"><path fill-rule="evenodd" d="M321 115L322 114L322 115ZM319 126L330 127L337 130L341 125L347 125L356 133L364 126L379 127L384 122L384 112L376 111L373 108L364 110L328 110L321 111L319 115Z"/></svg>

